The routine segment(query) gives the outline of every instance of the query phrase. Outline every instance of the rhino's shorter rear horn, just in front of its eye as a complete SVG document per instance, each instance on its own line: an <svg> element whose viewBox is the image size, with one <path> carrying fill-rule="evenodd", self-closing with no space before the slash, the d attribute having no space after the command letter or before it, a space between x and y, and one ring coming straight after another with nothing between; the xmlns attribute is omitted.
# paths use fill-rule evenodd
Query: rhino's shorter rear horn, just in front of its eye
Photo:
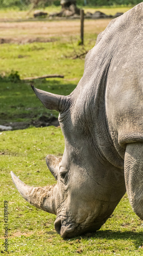
<svg viewBox="0 0 143 256"><path fill-rule="evenodd" d="M54 178L57 180L58 173L59 173L59 167L60 163L62 161L62 157L56 157L52 155L46 156L46 164L51 172L51 174L54 176Z"/></svg>

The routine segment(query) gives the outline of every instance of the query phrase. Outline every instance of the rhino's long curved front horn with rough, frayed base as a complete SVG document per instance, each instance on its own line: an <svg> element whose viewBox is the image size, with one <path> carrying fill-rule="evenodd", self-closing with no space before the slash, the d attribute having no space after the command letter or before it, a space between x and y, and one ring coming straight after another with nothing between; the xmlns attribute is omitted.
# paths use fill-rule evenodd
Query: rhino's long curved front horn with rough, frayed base
<svg viewBox="0 0 143 256"><path fill-rule="evenodd" d="M50 214L56 215L55 203L53 198L53 186L31 187L23 183L18 177L11 172L14 185L20 195L30 204L40 208Z"/></svg>

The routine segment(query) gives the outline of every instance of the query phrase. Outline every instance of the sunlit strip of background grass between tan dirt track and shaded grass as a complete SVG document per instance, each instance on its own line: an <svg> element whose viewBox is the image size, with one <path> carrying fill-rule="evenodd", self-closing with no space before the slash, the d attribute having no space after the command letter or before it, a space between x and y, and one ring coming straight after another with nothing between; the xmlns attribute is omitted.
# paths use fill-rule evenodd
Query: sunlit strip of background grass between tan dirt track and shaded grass
<svg viewBox="0 0 143 256"><path fill-rule="evenodd" d="M14 69L19 72L21 79L29 76L55 73L66 73L67 78L82 76L84 60L65 57L65 55L70 55L73 52L71 42L60 42L58 40L47 44L34 42L26 45L4 44L0 47L0 74L4 71L5 73L10 73ZM77 51L80 48L77 46L77 42L75 47ZM80 68L81 63L82 70ZM78 70L77 66L79 67Z"/></svg>

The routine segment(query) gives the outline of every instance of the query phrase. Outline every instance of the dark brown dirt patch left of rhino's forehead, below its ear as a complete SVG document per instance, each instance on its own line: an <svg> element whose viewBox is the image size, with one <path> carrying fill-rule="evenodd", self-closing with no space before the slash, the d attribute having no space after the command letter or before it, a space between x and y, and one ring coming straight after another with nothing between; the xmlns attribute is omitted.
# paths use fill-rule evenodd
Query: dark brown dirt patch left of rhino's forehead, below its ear
<svg viewBox="0 0 143 256"><path fill-rule="evenodd" d="M56 117L46 117L46 116L41 116L40 118L38 118L37 120L31 120L28 122L13 122L13 123L5 123L6 126L10 125L12 127L12 130L22 130L22 129L26 129L30 126L35 126L35 127L46 127L46 126L50 126L53 125L55 127L58 127L59 121L58 118Z"/></svg>

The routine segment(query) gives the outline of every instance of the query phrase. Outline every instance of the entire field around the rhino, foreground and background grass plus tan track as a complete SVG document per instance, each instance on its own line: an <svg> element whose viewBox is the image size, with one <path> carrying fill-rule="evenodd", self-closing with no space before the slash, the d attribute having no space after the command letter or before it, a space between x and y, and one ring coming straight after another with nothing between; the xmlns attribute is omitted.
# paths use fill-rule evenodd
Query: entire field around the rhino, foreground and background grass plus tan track
<svg viewBox="0 0 143 256"><path fill-rule="evenodd" d="M14 16L14 12L11 15ZM78 45L78 21L0 23L0 37L16 42L0 45L0 124L31 122L44 115L58 117L56 111L46 110L36 98L31 83L55 94L70 94L84 69L84 55L77 56L94 46L97 35L108 23L109 19L85 22L84 48ZM22 41L37 37L47 38L49 42L28 44ZM65 77L14 81L15 77L10 76L12 70L13 73L18 71L21 79L53 73ZM66 240L54 230L55 216L22 199L12 183L10 171L28 185L54 184L45 157L47 154L62 156L63 152L64 138L60 127L0 132L1 254L4 255L5 249L4 201L8 201L9 255L143 255L143 222L133 213L127 195L99 231Z"/></svg>

